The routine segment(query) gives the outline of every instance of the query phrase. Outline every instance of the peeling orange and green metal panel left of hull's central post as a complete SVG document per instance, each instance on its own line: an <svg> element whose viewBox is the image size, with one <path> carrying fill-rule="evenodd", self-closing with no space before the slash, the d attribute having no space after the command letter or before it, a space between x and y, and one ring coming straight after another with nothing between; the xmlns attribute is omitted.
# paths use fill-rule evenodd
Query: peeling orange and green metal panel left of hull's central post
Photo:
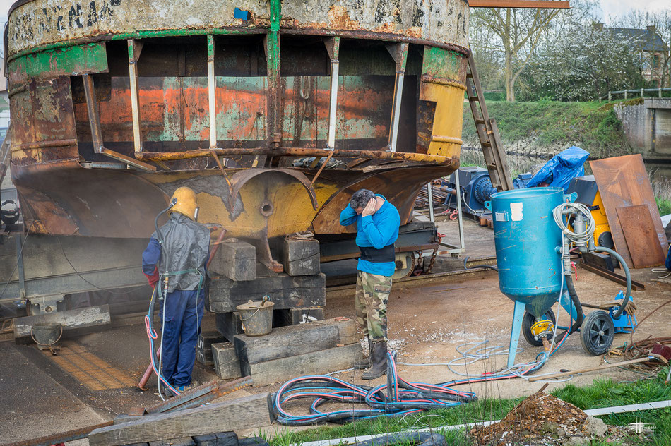
<svg viewBox="0 0 671 446"><path fill-rule="evenodd" d="M217 77L215 95L218 136L223 147L247 141L265 140L266 78ZM208 147L210 119L207 79L202 77L139 78L140 117L145 147L162 143L187 143L187 147ZM133 128L128 78L112 77L112 95L98 102L102 139L107 144L127 143L125 155L132 155ZM75 105L81 141L90 142L86 104ZM225 144L229 141L229 144ZM197 144L188 145L189 142ZM167 147L170 147L168 145ZM182 147L181 144L172 145Z"/></svg>

